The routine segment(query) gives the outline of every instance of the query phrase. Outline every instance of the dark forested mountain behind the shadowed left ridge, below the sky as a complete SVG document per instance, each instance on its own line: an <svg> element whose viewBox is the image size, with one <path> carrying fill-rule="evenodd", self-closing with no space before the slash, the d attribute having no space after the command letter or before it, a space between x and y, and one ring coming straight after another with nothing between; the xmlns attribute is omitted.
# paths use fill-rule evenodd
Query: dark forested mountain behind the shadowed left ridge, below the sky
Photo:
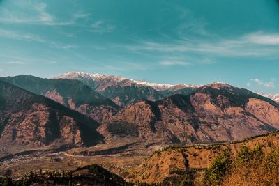
<svg viewBox="0 0 279 186"><path fill-rule="evenodd" d="M29 75L2 79L79 111L99 123L108 121L119 109L114 102L75 79L43 79Z"/></svg>

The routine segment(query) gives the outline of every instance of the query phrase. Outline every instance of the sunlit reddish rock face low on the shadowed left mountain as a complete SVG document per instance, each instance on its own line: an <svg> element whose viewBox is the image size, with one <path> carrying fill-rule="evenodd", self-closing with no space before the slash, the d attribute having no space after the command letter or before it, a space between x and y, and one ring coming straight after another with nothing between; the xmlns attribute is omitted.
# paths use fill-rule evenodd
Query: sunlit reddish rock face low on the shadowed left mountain
<svg viewBox="0 0 279 186"><path fill-rule="evenodd" d="M18 144L49 145L56 139L62 139L65 144L82 145L77 121L59 116L43 104L33 104L28 111L10 114L1 134L2 141Z"/></svg>

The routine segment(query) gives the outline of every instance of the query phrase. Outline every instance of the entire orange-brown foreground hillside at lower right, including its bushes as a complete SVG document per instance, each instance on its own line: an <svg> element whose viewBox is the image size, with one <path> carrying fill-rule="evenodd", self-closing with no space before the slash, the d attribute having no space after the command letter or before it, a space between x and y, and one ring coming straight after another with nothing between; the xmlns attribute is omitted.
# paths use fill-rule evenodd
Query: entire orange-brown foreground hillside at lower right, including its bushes
<svg viewBox="0 0 279 186"><path fill-rule="evenodd" d="M232 144L169 146L147 157L132 171L129 180L172 185L185 181L188 171L192 173L190 185L278 185L278 145L276 132ZM218 165L224 166L227 160L230 167L226 172Z"/></svg>

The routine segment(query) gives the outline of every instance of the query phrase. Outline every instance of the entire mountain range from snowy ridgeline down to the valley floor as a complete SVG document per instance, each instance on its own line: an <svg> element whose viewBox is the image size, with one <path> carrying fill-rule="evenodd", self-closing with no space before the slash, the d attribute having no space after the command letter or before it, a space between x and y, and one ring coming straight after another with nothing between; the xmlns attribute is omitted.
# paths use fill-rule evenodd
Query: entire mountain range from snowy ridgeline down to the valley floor
<svg viewBox="0 0 279 186"><path fill-rule="evenodd" d="M63 114L82 118L82 123L86 123L82 126L88 126L90 120L94 126L91 132L98 131L94 143L125 137L159 144L234 141L279 129L277 102L218 82L204 86L149 84L112 75L68 72L52 79L29 75L2 77L1 83L5 84L1 139L8 141L20 141L18 137L28 134L31 139L27 143L52 144L63 134ZM7 96L7 86L16 90L10 93L11 98ZM39 98L52 104L42 103ZM25 99L29 107L22 105ZM7 106L19 103L17 111ZM55 109L50 107L54 104ZM18 112L23 115L17 115ZM70 118L69 123L80 126L79 121ZM49 125L55 126L56 133L49 131ZM22 128L32 128L31 134L18 132ZM77 128L69 131L82 134ZM35 137L37 131L44 132ZM74 138L70 137L71 141ZM86 144L80 138L72 145Z"/></svg>

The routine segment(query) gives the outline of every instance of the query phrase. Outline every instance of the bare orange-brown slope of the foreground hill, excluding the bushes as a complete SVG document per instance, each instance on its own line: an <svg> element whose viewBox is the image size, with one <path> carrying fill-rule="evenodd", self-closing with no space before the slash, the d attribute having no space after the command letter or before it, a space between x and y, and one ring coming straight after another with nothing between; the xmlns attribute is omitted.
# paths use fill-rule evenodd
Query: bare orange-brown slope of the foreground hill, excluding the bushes
<svg viewBox="0 0 279 186"><path fill-rule="evenodd" d="M271 150L274 150L274 147L278 146L278 139L279 134L277 132L232 144L168 146L154 152L150 157L147 157L140 166L137 166L131 171L130 180L140 180L149 184L163 183L165 179L172 176L180 179L182 177L181 180L183 180L187 168L199 171L202 171L204 168L209 168L213 160L225 149L229 149L232 156L236 157L243 146L255 149L260 145L264 153L267 154ZM185 162L188 162L188 167ZM203 174L196 174L196 179L201 175ZM246 174L246 176L248 175ZM277 178L277 176L274 176L274 178ZM231 184L236 185L236 183Z"/></svg>

